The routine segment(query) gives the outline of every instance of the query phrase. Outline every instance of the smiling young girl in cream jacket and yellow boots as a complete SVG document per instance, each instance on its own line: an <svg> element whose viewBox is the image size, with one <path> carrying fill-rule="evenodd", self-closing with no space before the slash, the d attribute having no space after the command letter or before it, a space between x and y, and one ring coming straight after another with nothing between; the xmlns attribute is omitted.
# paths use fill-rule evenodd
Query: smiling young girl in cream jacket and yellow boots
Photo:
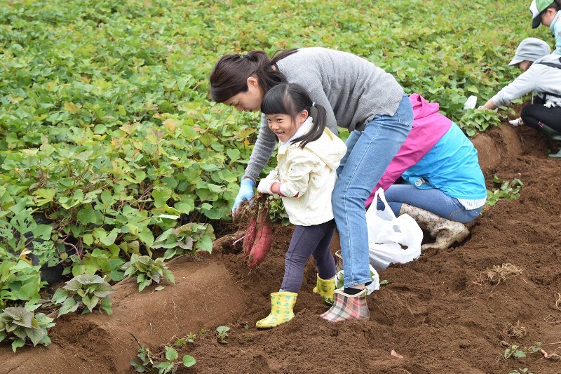
<svg viewBox="0 0 561 374"><path fill-rule="evenodd" d="M332 304L335 262L330 241L335 229L331 194L345 143L325 127L325 109L313 103L302 86L278 84L263 98L261 112L279 140L277 167L259 182L257 190L278 194L295 231L285 258L280 290L271 293L271 314L257 328L290 321L304 266L310 255L318 269L315 293Z"/></svg>

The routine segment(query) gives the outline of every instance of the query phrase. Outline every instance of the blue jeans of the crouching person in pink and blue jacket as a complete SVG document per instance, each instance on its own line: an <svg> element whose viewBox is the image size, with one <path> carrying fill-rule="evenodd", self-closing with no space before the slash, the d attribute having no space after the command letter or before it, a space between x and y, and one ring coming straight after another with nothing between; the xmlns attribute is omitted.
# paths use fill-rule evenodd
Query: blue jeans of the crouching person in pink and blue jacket
<svg viewBox="0 0 561 374"><path fill-rule="evenodd" d="M459 203L458 199L448 196L440 189L419 189L409 184L390 186L384 194L391 210L396 216L399 215L401 204L406 203L435 213L435 215L440 215L440 217L447 220L468 223L478 218L482 209L466 209ZM378 200L378 209L383 208L384 204Z"/></svg>

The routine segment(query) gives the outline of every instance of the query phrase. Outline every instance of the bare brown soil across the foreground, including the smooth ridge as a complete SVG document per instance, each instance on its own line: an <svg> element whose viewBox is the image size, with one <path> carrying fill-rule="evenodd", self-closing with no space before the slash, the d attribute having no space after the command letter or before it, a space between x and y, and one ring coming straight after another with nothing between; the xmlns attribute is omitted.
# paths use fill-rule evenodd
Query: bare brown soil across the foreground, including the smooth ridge
<svg viewBox="0 0 561 374"><path fill-rule="evenodd" d="M546 157L549 142L529 128L506 124L473 142L487 187L496 188L493 175L519 178L520 199L487 208L461 246L379 272L389 283L368 298L370 321L320 319L327 307L311 292L310 261L295 319L273 330L255 328L269 313L269 293L280 286L292 234L276 226L273 249L256 272L223 238L201 262L171 262L176 286L137 293L133 281L122 282L111 316L65 316L47 348L12 354L2 347L0 372L132 373L126 362L138 345L130 332L154 351L196 333L179 349L196 365L177 373L507 374L529 368L559 374L561 161ZM338 245L335 239L332 250ZM219 325L231 328L227 344L215 337ZM539 352L503 358L508 345L536 342L550 358Z"/></svg>

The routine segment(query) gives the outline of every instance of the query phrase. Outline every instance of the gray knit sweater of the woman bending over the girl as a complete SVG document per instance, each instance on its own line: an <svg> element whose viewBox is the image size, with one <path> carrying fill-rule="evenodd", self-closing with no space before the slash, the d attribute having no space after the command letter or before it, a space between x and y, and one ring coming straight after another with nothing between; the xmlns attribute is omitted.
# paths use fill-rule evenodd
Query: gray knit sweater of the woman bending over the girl
<svg viewBox="0 0 561 374"><path fill-rule="evenodd" d="M311 100L327 111L327 127L361 130L377 114L393 115L403 88L391 74L351 53L327 48L300 48L277 62L290 83L303 86ZM243 178L255 180L276 146L276 137L262 116L261 128Z"/></svg>

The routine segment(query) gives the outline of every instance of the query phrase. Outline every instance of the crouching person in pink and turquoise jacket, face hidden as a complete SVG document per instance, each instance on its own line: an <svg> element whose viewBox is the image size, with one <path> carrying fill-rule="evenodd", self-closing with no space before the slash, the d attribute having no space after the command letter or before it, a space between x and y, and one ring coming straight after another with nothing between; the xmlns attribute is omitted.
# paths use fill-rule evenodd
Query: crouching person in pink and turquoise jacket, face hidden
<svg viewBox="0 0 561 374"><path fill-rule="evenodd" d="M477 149L456 123L438 113L438 103L417 93L410 101L414 113L410 135L365 205L370 206L374 192L384 188L393 213L409 214L435 238L421 249L449 248L468 236L464 223L475 220L485 205L485 178ZM405 184L392 185L399 177Z"/></svg>

